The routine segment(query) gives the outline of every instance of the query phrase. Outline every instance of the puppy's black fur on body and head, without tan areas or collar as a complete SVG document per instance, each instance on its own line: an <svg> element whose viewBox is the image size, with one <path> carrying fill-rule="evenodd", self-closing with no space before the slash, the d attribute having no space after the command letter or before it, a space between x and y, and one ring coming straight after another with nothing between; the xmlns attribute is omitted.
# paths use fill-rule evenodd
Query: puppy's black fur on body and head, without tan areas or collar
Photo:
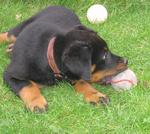
<svg viewBox="0 0 150 134"><path fill-rule="evenodd" d="M53 37L56 37L56 64L71 80L90 80L93 64L97 65L96 70L109 69L121 59L111 54L105 41L83 26L71 10L60 6L42 10L8 33L17 37L17 41L4 79L16 93L30 80L47 85L55 83L47 60L48 44Z"/></svg>

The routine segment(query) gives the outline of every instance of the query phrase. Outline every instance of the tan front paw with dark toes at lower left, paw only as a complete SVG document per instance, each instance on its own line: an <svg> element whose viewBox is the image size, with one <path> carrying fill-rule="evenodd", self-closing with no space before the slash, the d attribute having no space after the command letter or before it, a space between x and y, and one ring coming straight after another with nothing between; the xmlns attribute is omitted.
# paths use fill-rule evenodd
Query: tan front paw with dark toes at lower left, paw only
<svg viewBox="0 0 150 134"><path fill-rule="evenodd" d="M39 97L33 99L28 104L26 104L26 107L32 112L42 113L47 111L48 104L45 98L42 95L40 95Z"/></svg>

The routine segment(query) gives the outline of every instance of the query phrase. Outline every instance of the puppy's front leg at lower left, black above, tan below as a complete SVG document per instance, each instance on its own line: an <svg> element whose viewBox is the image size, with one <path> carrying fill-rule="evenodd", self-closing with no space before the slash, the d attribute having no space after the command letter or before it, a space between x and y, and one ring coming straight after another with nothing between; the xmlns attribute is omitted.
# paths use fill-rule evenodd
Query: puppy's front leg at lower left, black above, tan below
<svg viewBox="0 0 150 134"><path fill-rule="evenodd" d="M4 80L32 112L44 112L47 110L47 102L41 95L37 84L12 78L8 72L5 72Z"/></svg>

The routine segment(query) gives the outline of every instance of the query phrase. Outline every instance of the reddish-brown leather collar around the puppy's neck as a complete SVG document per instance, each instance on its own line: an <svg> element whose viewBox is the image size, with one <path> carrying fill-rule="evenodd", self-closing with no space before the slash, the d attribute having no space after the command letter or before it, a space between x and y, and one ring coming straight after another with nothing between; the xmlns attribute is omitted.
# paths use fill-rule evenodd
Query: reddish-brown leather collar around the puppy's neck
<svg viewBox="0 0 150 134"><path fill-rule="evenodd" d="M54 43L55 43L56 37L53 37L49 44L48 44L48 49L47 49L47 59L48 59L48 64L50 68L52 69L54 76L56 78L61 78L61 72L58 69L55 59L54 59Z"/></svg>

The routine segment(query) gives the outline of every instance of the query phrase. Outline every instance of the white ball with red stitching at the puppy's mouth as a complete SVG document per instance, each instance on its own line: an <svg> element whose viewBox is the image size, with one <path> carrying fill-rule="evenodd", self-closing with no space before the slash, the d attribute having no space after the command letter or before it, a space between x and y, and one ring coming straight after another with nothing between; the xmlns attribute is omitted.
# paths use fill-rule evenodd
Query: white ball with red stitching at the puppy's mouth
<svg viewBox="0 0 150 134"><path fill-rule="evenodd" d="M111 85L114 89L129 90L137 85L137 78L132 70L127 69L113 77Z"/></svg>

